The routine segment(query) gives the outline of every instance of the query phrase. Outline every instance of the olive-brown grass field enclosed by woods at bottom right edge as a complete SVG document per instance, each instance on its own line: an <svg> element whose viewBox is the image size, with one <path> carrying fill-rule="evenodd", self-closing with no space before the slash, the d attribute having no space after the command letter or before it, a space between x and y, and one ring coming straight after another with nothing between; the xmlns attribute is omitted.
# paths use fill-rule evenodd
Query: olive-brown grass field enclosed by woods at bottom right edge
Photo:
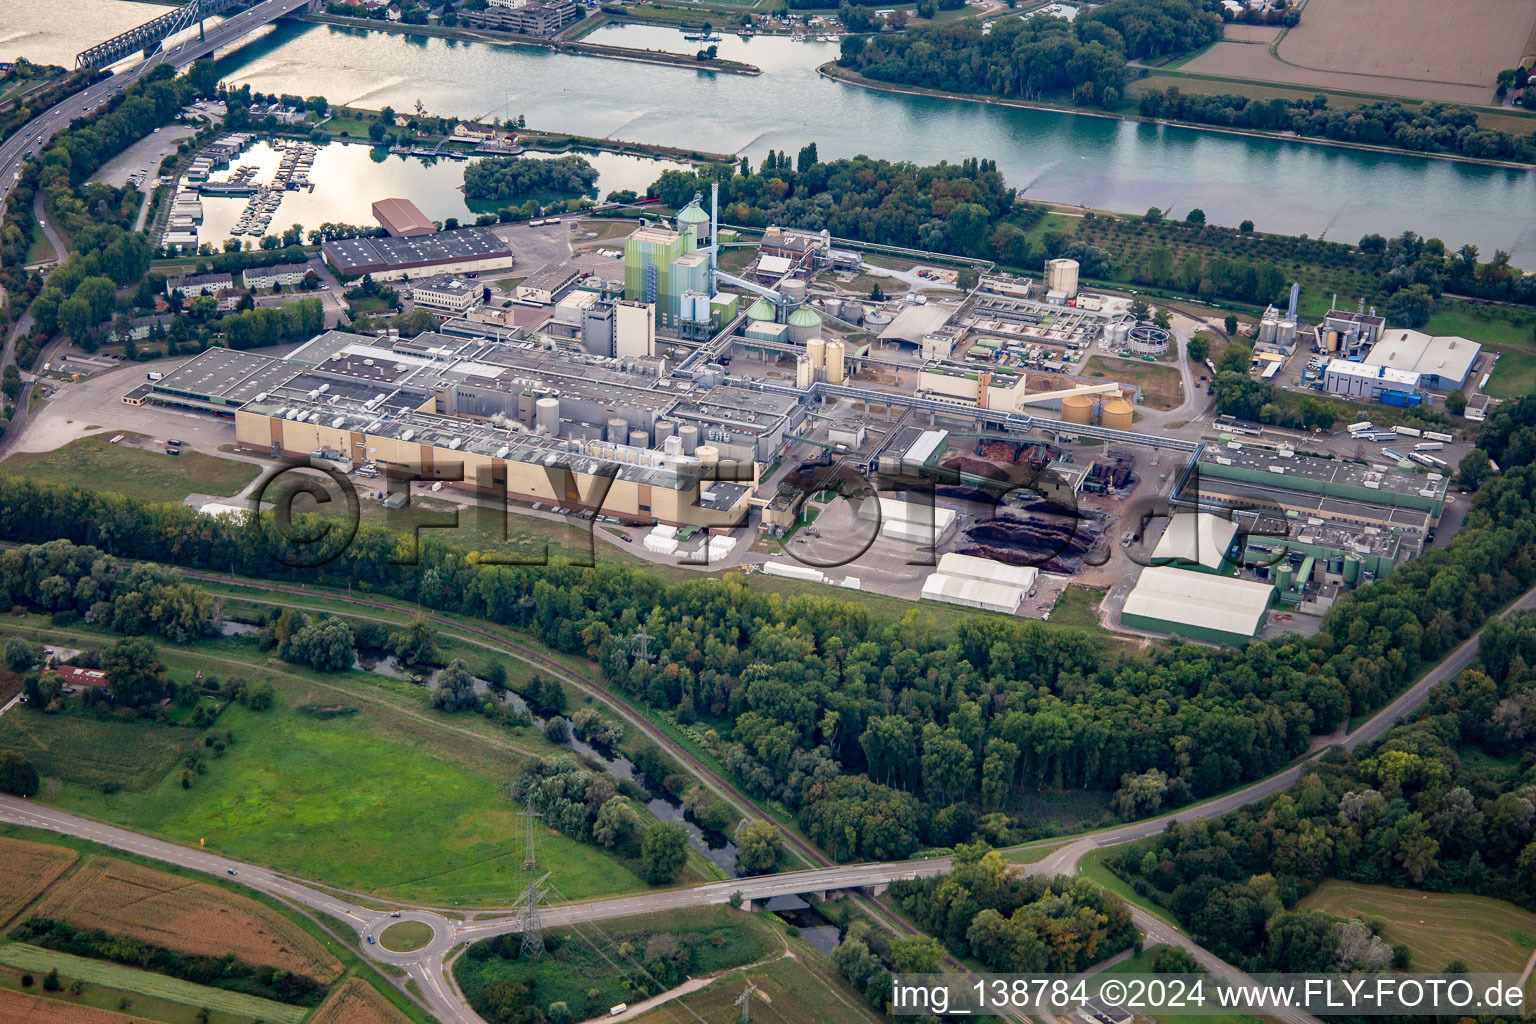
<svg viewBox="0 0 1536 1024"><path fill-rule="evenodd" d="M1536 952L1536 913L1487 897L1329 880L1298 909L1379 921L1384 940L1413 950L1412 970L1459 960L1473 972L1519 973Z"/></svg>

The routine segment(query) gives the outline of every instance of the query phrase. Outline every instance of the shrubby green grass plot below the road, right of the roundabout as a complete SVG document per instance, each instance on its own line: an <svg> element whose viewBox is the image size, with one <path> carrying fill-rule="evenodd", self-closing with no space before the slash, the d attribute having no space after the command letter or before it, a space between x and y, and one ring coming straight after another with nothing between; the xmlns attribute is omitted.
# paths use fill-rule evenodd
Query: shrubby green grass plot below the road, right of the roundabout
<svg viewBox="0 0 1536 1024"><path fill-rule="evenodd" d="M610 1006L637 1001L624 986L622 973L633 970L625 949L633 950L636 961L653 960L644 950L660 933L693 947L691 976L757 963L782 949L766 918L723 906L690 907L605 921L601 927L550 929L551 950L538 963L465 955L455 963L453 976L472 1004L490 984L531 976L541 1006L562 1001L584 1021L601 1016Z"/></svg>

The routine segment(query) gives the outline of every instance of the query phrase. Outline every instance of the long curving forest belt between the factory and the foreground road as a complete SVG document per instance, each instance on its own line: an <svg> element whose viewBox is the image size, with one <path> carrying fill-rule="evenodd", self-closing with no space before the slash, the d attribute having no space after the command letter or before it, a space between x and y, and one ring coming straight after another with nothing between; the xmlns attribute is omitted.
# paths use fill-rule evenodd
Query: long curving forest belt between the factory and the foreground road
<svg viewBox="0 0 1536 1024"><path fill-rule="evenodd" d="M1127 814L1178 806L1272 772L1313 735L1379 708L1536 583L1536 468L1519 462L1536 439L1531 424L1536 398L1505 402L1487 441L1504 473L1484 484L1450 545L1352 593L1316 636L1221 651L1170 645L1146 657L1037 622L971 617L938 629L739 580L478 565L432 539L419 563L395 565L393 534L367 524L332 562L289 570L269 554L276 536L17 477L0 477L0 536L304 583L367 580L425 608L527 629L596 659L619 692L696 726L743 788L783 801L839 860L892 858L922 844L1025 838L1032 826L1011 814L1029 794L1087 789ZM284 557L301 562L293 556ZM641 625L654 637L653 660L631 654ZM667 769L657 772L665 783Z"/></svg>

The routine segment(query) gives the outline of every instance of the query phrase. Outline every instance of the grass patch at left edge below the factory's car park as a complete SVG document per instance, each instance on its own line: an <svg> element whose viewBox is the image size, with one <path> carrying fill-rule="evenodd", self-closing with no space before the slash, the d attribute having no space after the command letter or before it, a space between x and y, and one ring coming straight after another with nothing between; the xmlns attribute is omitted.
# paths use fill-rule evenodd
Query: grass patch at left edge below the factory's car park
<svg viewBox="0 0 1536 1024"><path fill-rule="evenodd" d="M20 451L0 462L0 473L149 502L178 502L192 493L229 496L257 477L257 467L247 462L200 451L169 456L161 448L109 444L109 438L81 438L55 451Z"/></svg>

